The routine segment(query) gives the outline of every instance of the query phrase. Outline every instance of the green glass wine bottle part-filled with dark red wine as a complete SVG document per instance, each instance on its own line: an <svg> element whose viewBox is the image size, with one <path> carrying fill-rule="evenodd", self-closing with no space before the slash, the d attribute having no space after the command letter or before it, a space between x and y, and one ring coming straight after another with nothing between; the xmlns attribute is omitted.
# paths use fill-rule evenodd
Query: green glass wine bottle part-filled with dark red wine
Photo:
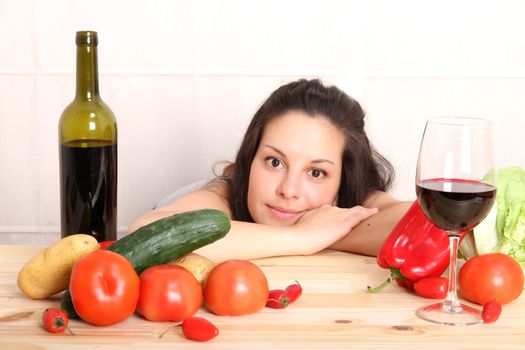
<svg viewBox="0 0 525 350"><path fill-rule="evenodd" d="M98 90L97 33L76 33L76 94L59 122L61 236L117 236L117 122Z"/></svg>

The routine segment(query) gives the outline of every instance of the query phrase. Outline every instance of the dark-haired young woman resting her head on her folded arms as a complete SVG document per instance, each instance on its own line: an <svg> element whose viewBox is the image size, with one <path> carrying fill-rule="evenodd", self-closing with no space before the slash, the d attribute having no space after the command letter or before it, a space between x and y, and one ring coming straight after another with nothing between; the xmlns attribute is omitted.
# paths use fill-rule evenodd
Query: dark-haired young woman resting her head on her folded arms
<svg viewBox="0 0 525 350"><path fill-rule="evenodd" d="M375 255L411 204L386 193L392 177L366 136L359 103L302 79L259 108L223 176L139 218L129 232L177 212L216 208L231 217L231 230L196 251L215 262L325 248Z"/></svg>

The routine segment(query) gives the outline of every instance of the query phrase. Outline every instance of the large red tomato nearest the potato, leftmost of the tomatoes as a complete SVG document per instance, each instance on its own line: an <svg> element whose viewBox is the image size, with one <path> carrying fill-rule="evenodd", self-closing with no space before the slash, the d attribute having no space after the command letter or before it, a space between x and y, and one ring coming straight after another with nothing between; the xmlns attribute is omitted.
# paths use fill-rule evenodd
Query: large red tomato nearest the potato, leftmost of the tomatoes
<svg viewBox="0 0 525 350"><path fill-rule="evenodd" d="M109 326L135 312L139 283L128 259L109 250L97 250L73 265L69 291L84 321Z"/></svg>

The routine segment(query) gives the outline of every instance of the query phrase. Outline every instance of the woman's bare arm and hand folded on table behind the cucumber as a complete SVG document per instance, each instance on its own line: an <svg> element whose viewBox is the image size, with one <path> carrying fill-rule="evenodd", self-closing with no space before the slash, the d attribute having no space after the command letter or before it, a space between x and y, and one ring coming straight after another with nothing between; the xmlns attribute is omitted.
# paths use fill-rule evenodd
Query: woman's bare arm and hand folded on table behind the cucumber
<svg viewBox="0 0 525 350"><path fill-rule="evenodd" d="M172 205L154 210L134 222L128 232L178 212L200 208L231 211L224 197L214 191L199 190ZM340 240L354 226L377 213L376 209L354 207L342 209L323 206L304 214L293 226L270 226L232 221L228 234L196 253L220 262L227 259L256 259L281 255L309 255Z"/></svg>

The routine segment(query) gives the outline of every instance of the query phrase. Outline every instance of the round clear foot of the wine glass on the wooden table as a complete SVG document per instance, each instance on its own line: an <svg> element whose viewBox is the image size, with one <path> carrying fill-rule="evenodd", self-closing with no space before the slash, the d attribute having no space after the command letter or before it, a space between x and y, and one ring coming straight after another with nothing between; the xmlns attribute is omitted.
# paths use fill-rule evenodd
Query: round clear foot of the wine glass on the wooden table
<svg viewBox="0 0 525 350"><path fill-rule="evenodd" d="M417 309L416 315L426 321L449 326L467 326L483 322L479 310L465 304L460 306L459 310L446 311L446 305L436 303Z"/></svg>

